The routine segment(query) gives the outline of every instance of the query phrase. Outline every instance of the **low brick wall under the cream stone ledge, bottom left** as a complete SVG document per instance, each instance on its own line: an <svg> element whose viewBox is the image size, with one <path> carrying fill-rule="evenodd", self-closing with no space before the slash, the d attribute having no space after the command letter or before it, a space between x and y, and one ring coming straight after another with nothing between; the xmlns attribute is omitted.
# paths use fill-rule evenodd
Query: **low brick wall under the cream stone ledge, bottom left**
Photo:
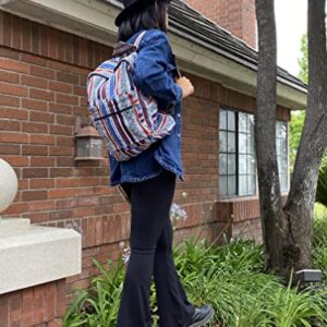
<svg viewBox="0 0 327 327"><path fill-rule="evenodd" d="M64 279L0 295L0 326L60 327L64 298Z"/></svg>

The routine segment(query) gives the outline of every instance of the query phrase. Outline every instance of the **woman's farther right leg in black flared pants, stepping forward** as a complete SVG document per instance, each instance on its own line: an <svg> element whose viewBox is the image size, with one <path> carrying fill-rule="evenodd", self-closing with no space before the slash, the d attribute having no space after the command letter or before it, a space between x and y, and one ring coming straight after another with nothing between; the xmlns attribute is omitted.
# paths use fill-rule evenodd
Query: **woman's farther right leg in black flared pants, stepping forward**
<svg viewBox="0 0 327 327"><path fill-rule="evenodd" d="M172 240L172 226L168 217L157 243L154 270L160 327L186 326L195 311L187 301L175 270L171 247Z"/></svg>

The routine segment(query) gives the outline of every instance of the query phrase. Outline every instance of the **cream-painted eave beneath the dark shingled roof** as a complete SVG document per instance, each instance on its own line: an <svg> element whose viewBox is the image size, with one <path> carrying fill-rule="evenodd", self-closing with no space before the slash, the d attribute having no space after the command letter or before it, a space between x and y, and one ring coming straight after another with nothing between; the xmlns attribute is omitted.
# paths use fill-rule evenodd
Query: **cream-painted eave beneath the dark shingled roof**
<svg viewBox="0 0 327 327"><path fill-rule="evenodd" d="M117 35L113 21L121 5L114 0L110 2L114 3L105 0L12 0L0 9L112 46ZM205 48L172 26L169 34L181 70L255 96L255 64L242 62L221 49ZM277 95L278 105L288 109L298 110L306 105L306 89L280 76Z"/></svg>

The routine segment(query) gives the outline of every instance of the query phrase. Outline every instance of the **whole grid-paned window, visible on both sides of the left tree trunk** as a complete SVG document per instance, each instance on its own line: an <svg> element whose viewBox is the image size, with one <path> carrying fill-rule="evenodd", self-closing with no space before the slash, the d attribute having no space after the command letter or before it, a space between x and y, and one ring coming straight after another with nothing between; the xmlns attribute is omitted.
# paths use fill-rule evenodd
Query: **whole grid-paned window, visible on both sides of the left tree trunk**
<svg viewBox="0 0 327 327"><path fill-rule="evenodd" d="M288 191L288 125L277 121L276 147L281 192ZM254 114L227 108L219 118L219 190L221 196L257 194Z"/></svg>

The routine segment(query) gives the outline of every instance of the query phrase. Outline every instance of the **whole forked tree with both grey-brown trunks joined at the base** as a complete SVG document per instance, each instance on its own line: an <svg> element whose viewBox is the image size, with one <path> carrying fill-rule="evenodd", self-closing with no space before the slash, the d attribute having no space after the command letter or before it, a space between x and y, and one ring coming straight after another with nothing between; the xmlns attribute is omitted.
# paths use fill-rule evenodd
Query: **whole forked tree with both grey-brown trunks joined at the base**
<svg viewBox="0 0 327 327"><path fill-rule="evenodd" d="M256 0L258 75L256 155L266 268L288 282L311 268L311 239L318 168L327 146L326 0L308 0L308 98L291 190L281 204L276 156L276 26L274 0ZM296 278L293 278L296 281Z"/></svg>

